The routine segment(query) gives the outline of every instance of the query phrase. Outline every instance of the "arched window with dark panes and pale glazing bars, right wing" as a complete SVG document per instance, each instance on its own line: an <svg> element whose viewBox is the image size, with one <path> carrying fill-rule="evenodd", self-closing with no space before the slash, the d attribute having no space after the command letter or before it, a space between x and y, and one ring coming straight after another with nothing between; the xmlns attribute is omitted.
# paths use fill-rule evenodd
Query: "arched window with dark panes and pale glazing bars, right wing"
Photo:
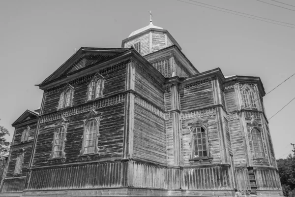
<svg viewBox="0 0 295 197"><path fill-rule="evenodd" d="M203 127L193 128L192 135L194 158L207 157L206 130Z"/></svg>

